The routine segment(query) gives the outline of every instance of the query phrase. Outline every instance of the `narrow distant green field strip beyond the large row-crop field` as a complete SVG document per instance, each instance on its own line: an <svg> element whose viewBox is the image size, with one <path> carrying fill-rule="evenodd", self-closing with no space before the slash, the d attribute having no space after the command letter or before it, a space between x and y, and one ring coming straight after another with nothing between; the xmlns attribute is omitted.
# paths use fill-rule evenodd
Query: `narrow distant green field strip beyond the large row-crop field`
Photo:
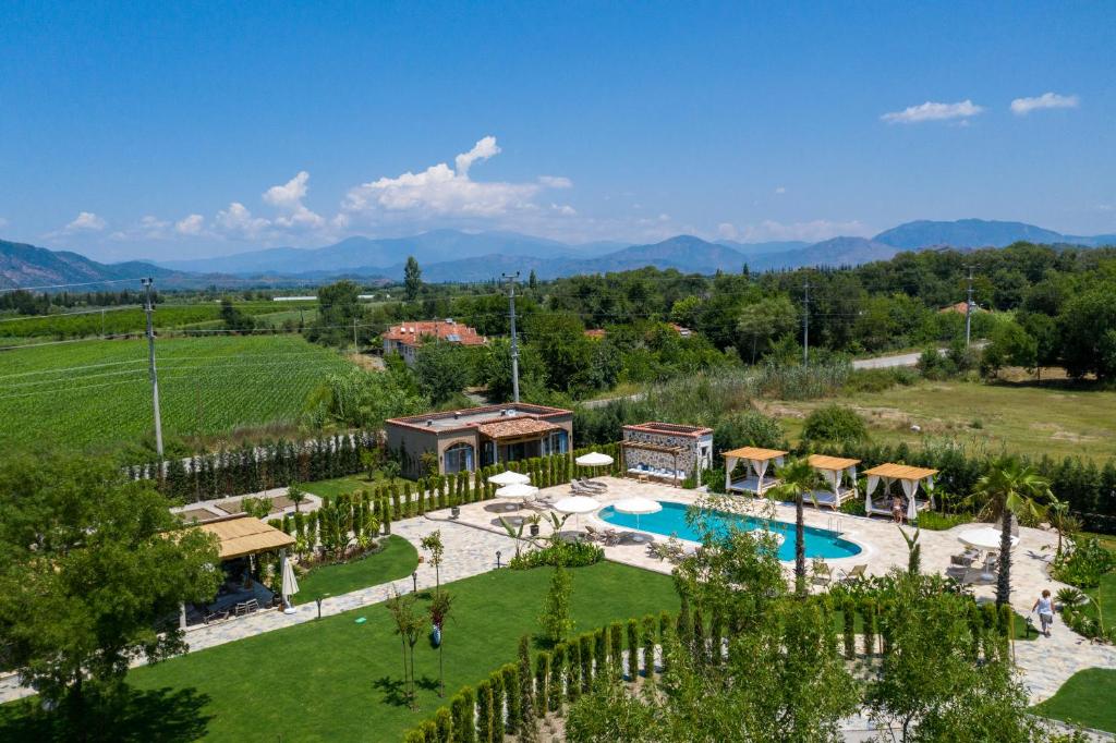
<svg viewBox="0 0 1116 743"><path fill-rule="evenodd" d="M246 315L268 318L280 315L298 318L300 311L316 312L317 302L234 302ZM310 316L312 317L312 315ZM279 320L281 322L282 320ZM0 338L86 338L92 336L121 336L143 332L146 317L141 307L105 307L67 309L52 317L0 317ZM156 305L153 316L156 328L221 326L219 301L193 305ZM270 322L269 322L270 325ZM8 345L8 344L4 344Z"/></svg>

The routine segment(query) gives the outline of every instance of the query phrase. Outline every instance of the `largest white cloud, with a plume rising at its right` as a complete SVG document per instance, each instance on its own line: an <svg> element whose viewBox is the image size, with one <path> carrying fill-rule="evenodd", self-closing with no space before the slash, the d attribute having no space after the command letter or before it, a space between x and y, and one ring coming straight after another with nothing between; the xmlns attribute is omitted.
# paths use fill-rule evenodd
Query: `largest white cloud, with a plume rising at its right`
<svg viewBox="0 0 1116 743"><path fill-rule="evenodd" d="M408 212L415 216L498 218L517 210L537 209L531 199L542 189L539 183L473 181L469 168L479 160L500 152L496 137L479 141L468 153L454 158L456 171L445 163L431 165L420 173L381 177L349 189L345 211Z"/></svg>

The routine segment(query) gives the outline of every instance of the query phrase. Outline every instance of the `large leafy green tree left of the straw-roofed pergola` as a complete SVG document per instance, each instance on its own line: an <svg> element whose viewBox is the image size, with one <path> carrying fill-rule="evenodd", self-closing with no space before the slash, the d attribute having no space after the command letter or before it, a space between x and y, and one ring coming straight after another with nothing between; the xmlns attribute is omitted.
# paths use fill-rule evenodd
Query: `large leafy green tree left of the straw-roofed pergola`
<svg viewBox="0 0 1116 743"><path fill-rule="evenodd" d="M0 648L4 665L80 724L85 689L136 657L186 645L180 605L208 601L217 540L183 527L151 481L108 461L6 456L0 464Z"/></svg>

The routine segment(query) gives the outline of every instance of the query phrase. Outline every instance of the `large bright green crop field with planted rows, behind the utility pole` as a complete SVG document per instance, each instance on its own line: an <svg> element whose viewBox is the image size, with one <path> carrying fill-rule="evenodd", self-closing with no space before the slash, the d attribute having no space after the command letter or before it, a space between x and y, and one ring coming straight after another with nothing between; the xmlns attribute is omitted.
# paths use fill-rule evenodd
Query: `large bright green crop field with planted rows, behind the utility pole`
<svg viewBox="0 0 1116 743"><path fill-rule="evenodd" d="M349 365L299 336L156 344L163 433L219 436L290 424L323 377ZM0 447L114 448L151 436L147 341L88 340L0 353Z"/></svg>

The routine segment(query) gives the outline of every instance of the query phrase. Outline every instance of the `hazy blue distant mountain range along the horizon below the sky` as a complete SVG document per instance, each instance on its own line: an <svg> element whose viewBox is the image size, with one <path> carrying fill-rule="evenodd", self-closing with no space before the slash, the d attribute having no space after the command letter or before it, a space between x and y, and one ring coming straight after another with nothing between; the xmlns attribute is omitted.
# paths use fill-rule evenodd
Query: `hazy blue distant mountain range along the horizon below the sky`
<svg viewBox="0 0 1116 743"><path fill-rule="evenodd" d="M709 242L676 235L662 242L567 244L513 232L435 230L405 238L348 238L324 248L271 248L210 259L99 263L78 253L0 241L0 288L94 283L152 276L164 288L248 281L276 286L317 283L338 277L398 280L407 255L417 258L423 279L487 281L504 272L535 271L540 279L607 273L654 266L687 273L753 271L802 266L855 266L886 260L903 250L1002 248L1018 241L1098 247L1116 234L1068 235L1022 222L916 221L874 238L833 238L816 243L776 241Z"/></svg>

